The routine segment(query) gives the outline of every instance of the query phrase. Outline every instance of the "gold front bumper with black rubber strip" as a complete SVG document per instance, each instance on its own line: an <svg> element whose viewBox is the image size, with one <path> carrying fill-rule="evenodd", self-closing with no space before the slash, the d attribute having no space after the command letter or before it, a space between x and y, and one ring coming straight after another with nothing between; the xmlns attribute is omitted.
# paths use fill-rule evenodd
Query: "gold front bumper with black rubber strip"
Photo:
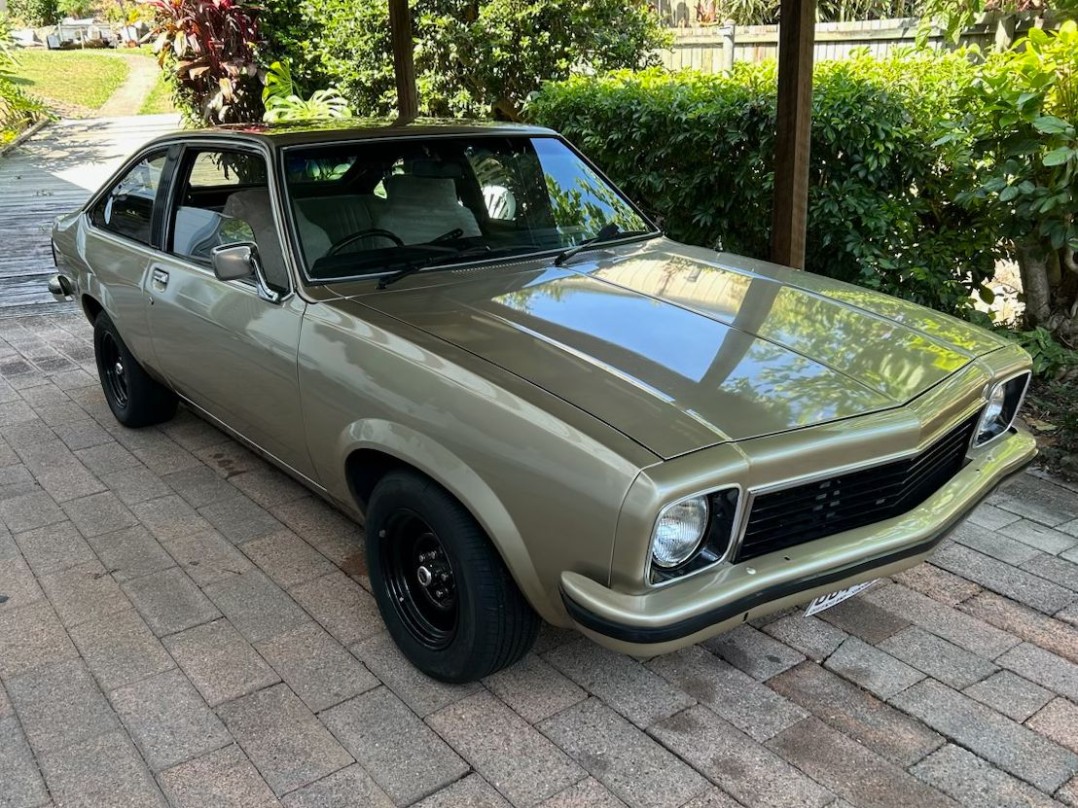
<svg viewBox="0 0 1078 808"><path fill-rule="evenodd" d="M918 563L1036 454L1034 438L1015 431L979 452L931 498L902 516L722 565L709 574L642 595L563 572L562 600L577 628L602 645L636 656L675 651L750 617Z"/></svg>

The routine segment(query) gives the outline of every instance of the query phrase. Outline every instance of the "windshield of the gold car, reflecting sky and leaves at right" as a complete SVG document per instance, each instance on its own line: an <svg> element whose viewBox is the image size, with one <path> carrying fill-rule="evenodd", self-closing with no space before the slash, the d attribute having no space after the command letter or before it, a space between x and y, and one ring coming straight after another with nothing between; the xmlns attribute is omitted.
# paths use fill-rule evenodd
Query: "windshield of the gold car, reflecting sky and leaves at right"
<svg viewBox="0 0 1078 808"><path fill-rule="evenodd" d="M314 281L565 250L654 229L553 137L289 149L285 176Z"/></svg>

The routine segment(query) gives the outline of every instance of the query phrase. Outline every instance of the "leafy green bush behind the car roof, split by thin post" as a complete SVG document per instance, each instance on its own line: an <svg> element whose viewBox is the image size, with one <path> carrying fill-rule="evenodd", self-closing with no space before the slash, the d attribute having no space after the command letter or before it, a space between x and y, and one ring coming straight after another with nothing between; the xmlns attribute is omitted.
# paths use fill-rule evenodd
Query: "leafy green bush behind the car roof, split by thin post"
<svg viewBox="0 0 1078 808"><path fill-rule="evenodd" d="M385 0L266 5L275 58L308 85L340 86L363 114L395 110ZM667 41L644 0L412 0L411 10L419 103L430 115L515 120L543 81L641 67Z"/></svg>

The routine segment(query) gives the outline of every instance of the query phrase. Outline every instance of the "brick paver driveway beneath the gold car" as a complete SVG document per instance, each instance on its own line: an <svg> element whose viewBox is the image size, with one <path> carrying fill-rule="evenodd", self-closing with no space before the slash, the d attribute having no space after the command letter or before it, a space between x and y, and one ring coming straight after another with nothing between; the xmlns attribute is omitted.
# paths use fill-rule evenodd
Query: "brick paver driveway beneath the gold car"
<svg viewBox="0 0 1078 808"><path fill-rule="evenodd" d="M570 632L424 679L362 532L77 315L0 320L0 806L1078 805L1078 494L1023 476L820 617L640 664Z"/></svg>

